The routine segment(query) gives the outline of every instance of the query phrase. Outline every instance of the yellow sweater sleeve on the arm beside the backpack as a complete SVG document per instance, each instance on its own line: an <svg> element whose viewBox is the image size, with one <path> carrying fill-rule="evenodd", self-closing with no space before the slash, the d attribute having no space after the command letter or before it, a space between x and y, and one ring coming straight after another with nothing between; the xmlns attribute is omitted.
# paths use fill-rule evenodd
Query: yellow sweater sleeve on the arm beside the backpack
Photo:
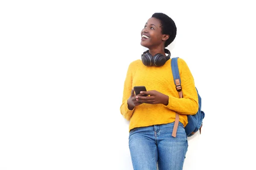
<svg viewBox="0 0 256 170"><path fill-rule="evenodd" d="M169 95L169 103L165 107L180 114L193 115L198 111L198 95L194 78L183 59L178 59L178 66L183 98Z"/></svg>

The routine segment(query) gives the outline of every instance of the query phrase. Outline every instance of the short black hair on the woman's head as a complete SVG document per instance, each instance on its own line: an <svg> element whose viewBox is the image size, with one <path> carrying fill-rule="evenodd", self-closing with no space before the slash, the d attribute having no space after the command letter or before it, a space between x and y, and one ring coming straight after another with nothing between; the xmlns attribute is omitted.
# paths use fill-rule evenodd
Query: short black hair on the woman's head
<svg viewBox="0 0 256 170"><path fill-rule="evenodd" d="M169 39L165 42L165 47L173 42L177 34L177 28L175 22L170 18L168 15L163 13L154 13L152 17L157 18L160 20L162 34L168 34Z"/></svg>

